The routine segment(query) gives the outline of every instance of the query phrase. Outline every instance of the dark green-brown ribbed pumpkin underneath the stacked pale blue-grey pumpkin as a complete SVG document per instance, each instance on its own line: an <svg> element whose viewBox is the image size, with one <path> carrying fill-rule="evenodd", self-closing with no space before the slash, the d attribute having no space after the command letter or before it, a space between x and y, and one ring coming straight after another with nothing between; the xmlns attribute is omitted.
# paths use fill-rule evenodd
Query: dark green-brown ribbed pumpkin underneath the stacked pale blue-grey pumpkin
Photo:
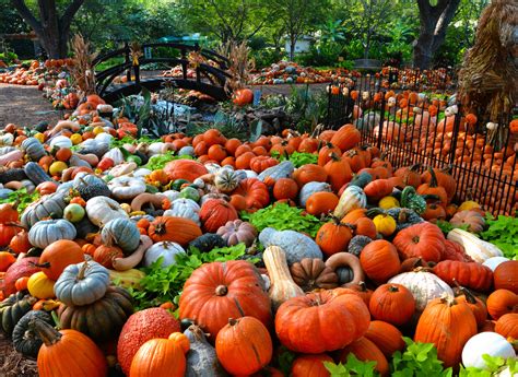
<svg viewBox="0 0 518 377"><path fill-rule="evenodd" d="M106 294L92 304L62 305L58 310L61 328L81 331L96 342L116 339L132 314L131 295L116 286L109 286Z"/></svg>

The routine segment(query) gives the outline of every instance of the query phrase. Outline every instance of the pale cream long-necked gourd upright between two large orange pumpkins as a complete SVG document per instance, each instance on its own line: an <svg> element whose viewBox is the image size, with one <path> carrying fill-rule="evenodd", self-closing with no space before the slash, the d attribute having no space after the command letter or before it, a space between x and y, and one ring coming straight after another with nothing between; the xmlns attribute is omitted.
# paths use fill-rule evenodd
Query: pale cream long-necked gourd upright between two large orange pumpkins
<svg viewBox="0 0 518 377"><path fill-rule="evenodd" d="M284 251L278 246L269 246L262 255L264 264L270 276L270 288L268 294L272 301L273 308L278 308L285 301L304 296L304 291L295 284L290 274Z"/></svg>

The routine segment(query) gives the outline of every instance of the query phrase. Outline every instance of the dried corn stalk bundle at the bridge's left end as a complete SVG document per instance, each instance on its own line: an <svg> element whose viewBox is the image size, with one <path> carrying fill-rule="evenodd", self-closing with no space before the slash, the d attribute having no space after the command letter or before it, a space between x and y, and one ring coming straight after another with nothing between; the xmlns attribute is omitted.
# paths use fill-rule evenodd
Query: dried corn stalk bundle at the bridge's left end
<svg viewBox="0 0 518 377"><path fill-rule="evenodd" d="M85 42L81 34L72 38L73 67L71 76L74 85L79 89L79 97L95 93L95 72L93 61L97 52L91 52L90 43Z"/></svg>

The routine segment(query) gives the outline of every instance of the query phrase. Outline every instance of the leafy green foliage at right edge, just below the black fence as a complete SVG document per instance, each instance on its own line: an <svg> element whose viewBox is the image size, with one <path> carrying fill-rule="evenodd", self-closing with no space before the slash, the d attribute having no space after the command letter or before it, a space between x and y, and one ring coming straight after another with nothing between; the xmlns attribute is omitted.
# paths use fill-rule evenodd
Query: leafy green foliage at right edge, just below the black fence
<svg viewBox="0 0 518 377"><path fill-rule="evenodd" d="M496 245L504 257L518 259L518 219L503 215L494 219L487 213L485 220L488 228L481 233L482 239Z"/></svg>

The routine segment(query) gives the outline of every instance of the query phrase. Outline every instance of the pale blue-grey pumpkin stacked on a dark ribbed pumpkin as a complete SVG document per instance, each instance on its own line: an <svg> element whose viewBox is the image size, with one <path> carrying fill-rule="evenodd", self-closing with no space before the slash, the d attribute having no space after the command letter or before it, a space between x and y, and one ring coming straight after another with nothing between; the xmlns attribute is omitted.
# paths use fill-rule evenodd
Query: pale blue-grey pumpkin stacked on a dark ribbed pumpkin
<svg viewBox="0 0 518 377"><path fill-rule="evenodd" d="M56 297L68 306L82 306L102 298L109 284L109 270L97 262L70 264L54 285Z"/></svg>

